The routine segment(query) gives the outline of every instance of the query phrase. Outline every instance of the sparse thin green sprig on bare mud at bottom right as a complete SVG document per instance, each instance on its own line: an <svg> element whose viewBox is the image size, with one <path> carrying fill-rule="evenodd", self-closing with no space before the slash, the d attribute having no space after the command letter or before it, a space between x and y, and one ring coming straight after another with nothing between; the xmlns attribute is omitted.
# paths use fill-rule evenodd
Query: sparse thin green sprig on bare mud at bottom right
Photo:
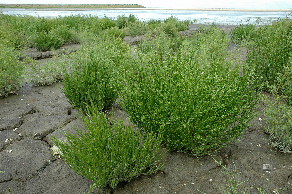
<svg viewBox="0 0 292 194"><path fill-rule="evenodd" d="M213 158L213 156L212 156L212 158ZM232 170L231 172L229 172L229 171L227 170L227 168L226 168L226 165L223 166L223 165L221 164L221 162L216 161L214 158L213 158L213 160L214 160L217 164L219 164L219 166L221 167L221 169L224 169L224 170L225 170L225 172L223 172L223 173L228 175L228 180L225 179L224 181L227 181L227 182L229 182L229 183L228 183L228 184L225 184L224 187L221 186L222 189L220 188L220 190L223 191L223 192L226 193L226 194L230 194L229 191L231 191L232 194L237 194L237 187L238 187L239 185L241 185L242 183L245 183L246 181L239 182L239 180L237 179L238 172L237 172L237 168L236 168L236 166L235 166L235 163L233 162L234 170ZM222 172L222 171L221 171L221 172ZM224 189L224 190L223 190L223 189ZM197 189L197 190L198 190L198 189ZM198 190L198 191L199 191L200 193L203 193L203 192L200 191L200 190ZM245 186L245 189L244 189L244 190L241 189L240 194L245 194L245 192L246 192L246 186ZM206 194L206 193L204 193L204 194Z"/></svg>

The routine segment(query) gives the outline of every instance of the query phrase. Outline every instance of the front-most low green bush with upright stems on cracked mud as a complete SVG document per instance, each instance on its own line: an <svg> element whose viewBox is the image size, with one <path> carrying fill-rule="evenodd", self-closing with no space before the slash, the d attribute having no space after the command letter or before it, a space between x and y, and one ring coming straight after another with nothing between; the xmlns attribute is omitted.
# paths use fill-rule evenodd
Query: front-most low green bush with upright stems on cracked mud
<svg viewBox="0 0 292 194"><path fill-rule="evenodd" d="M99 105L100 106L100 105ZM85 129L77 136L64 131L70 144L52 137L62 159L77 174L96 183L97 188L115 188L121 181L150 175L161 169L160 135L141 134L139 128L124 126L114 118L107 120L97 105L87 106L88 115L81 113Z"/></svg>

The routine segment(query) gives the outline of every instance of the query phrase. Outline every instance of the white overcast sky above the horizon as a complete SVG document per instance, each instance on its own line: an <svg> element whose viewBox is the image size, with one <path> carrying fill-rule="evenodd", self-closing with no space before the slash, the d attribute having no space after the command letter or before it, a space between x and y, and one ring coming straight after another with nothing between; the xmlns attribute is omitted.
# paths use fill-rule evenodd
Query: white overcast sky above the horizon
<svg viewBox="0 0 292 194"><path fill-rule="evenodd" d="M48 3L49 2L49 3ZM148 8L291 9L292 0L0 0L0 4L139 4Z"/></svg>

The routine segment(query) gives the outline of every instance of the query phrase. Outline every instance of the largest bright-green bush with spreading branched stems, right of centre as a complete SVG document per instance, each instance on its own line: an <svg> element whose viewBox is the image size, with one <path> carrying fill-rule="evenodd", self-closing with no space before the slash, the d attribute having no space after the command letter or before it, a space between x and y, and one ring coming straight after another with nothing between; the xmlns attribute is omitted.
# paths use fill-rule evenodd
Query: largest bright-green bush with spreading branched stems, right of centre
<svg viewBox="0 0 292 194"><path fill-rule="evenodd" d="M241 67L219 53L226 52L225 45L216 45L223 42L221 34L211 35L185 53L140 57L118 83L120 105L132 122L145 132L160 131L170 150L213 153L242 134L255 117L259 96L250 87L254 73L244 69L239 76ZM203 51L208 56L200 56Z"/></svg>

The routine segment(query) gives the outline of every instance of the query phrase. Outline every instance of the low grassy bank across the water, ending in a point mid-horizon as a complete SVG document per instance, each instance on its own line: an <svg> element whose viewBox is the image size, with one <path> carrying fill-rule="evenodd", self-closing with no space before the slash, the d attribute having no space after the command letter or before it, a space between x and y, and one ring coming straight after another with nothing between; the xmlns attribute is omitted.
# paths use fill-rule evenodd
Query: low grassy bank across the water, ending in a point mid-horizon
<svg viewBox="0 0 292 194"><path fill-rule="evenodd" d="M145 8L137 4L0 4L0 8Z"/></svg>

